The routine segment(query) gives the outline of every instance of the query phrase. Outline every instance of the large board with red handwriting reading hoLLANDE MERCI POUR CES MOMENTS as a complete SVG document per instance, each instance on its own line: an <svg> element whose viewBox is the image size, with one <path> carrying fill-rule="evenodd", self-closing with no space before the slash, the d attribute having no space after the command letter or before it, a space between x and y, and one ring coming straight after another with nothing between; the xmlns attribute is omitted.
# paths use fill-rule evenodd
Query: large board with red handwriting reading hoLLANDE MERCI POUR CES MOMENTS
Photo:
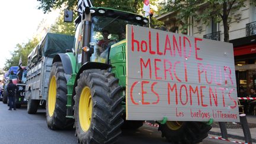
<svg viewBox="0 0 256 144"><path fill-rule="evenodd" d="M239 121L233 46L126 28L126 119Z"/></svg>

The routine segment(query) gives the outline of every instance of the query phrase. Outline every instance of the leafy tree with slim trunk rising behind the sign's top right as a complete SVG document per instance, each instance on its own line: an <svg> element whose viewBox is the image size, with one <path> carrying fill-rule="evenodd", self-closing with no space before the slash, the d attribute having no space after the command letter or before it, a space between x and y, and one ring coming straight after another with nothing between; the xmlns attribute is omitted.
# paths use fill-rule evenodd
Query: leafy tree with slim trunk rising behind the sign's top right
<svg viewBox="0 0 256 144"><path fill-rule="evenodd" d="M177 11L176 19L183 25L183 30L187 28L189 17L203 21L209 24L210 20L217 23L223 23L224 41L229 41L229 20L231 20L231 11L236 11L245 7L246 0L168 0L164 11ZM200 13L199 13L200 12Z"/></svg>

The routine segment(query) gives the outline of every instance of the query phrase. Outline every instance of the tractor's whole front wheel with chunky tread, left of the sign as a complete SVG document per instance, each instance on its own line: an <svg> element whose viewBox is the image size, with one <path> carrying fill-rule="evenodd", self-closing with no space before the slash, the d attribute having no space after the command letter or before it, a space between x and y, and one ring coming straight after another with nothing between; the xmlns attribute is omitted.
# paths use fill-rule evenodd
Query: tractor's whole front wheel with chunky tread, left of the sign
<svg viewBox="0 0 256 144"><path fill-rule="evenodd" d="M118 81L112 73L100 69L81 73L74 98L75 136L79 143L117 142L123 124Z"/></svg>

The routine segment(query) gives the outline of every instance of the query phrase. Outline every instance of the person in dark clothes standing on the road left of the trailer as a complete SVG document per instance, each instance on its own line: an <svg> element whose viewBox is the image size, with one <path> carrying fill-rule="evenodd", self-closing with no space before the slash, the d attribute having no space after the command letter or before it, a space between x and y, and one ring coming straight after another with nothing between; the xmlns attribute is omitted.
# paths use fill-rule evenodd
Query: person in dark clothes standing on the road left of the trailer
<svg viewBox="0 0 256 144"><path fill-rule="evenodd" d="M9 109L16 110L16 103L15 103L15 91L16 91L16 85L12 83L12 79L9 80L9 84L7 85L7 91L8 91L8 100L9 100Z"/></svg>

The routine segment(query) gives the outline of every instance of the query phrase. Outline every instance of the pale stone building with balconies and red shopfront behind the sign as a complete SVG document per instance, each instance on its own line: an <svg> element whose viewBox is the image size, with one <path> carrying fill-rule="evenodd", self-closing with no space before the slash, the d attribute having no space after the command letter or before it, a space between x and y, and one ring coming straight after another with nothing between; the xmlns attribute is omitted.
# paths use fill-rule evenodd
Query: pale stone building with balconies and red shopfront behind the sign
<svg viewBox="0 0 256 144"><path fill-rule="evenodd" d="M169 31L179 33L181 25L176 24L176 14L177 12L168 12L156 19L163 21ZM248 0L245 7L231 12L230 16L232 18L229 20L229 42L233 43L238 94L240 89L244 89L249 95L250 89L256 88L256 7ZM187 30L189 36L224 40L222 23L210 20L210 23L205 25L192 17L188 21L191 23Z"/></svg>

